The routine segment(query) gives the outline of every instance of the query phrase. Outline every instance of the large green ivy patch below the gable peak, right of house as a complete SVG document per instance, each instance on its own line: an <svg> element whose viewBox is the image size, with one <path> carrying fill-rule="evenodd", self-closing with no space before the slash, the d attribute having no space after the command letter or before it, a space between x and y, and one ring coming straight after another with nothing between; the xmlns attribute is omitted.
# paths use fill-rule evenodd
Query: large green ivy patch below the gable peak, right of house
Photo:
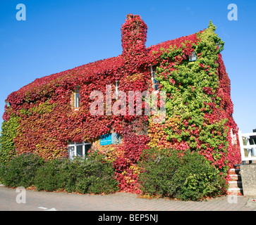
<svg viewBox="0 0 256 225"><path fill-rule="evenodd" d="M190 150L200 151L217 167L223 167L223 158L226 159L228 152L228 118L215 114L225 110L220 104L217 71L224 41L215 30L210 21L208 29L197 33L199 41L186 40L178 47L160 49L157 80L168 96L166 115L179 118L178 129L166 127L166 139L178 143L185 141ZM190 62L188 55L193 51L197 60Z"/></svg>

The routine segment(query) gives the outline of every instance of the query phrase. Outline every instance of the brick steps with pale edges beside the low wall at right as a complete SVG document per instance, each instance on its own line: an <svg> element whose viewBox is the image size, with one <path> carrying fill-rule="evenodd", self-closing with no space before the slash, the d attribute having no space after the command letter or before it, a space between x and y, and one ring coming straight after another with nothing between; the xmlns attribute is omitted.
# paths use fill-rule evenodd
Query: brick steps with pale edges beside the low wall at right
<svg viewBox="0 0 256 225"><path fill-rule="evenodd" d="M234 165L234 168L229 169L228 174L230 176L228 181L228 195L243 195L243 184L239 165Z"/></svg>

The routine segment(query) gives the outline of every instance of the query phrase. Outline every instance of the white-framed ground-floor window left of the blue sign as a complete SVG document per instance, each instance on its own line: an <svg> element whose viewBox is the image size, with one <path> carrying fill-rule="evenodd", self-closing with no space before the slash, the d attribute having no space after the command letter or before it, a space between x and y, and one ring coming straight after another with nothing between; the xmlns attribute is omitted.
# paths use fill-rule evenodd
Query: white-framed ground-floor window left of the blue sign
<svg viewBox="0 0 256 225"><path fill-rule="evenodd" d="M68 145L68 158L73 160L74 157L84 157L87 151L92 147L91 143L86 142L71 142Z"/></svg>

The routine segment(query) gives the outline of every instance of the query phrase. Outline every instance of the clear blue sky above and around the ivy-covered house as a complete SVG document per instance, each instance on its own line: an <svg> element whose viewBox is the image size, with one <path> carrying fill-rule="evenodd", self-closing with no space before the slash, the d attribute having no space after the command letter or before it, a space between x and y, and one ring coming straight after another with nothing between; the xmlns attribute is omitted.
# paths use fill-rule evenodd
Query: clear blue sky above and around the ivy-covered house
<svg viewBox="0 0 256 225"><path fill-rule="evenodd" d="M227 18L232 3L238 6L237 21ZM17 4L26 6L25 21L16 20ZM0 115L8 94L36 78L120 55L120 29L128 13L147 24L147 46L193 34L212 20L225 41L233 117L243 132L256 128L255 0L1 0Z"/></svg>

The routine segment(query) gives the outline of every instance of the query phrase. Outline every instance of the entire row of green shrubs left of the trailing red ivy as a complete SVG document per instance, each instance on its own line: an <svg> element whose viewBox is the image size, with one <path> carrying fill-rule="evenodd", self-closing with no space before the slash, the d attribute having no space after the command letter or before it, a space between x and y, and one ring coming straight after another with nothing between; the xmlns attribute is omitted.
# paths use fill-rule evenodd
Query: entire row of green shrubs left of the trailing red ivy
<svg viewBox="0 0 256 225"><path fill-rule="evenodd" d="M95 194L118 191L113 165L97 151L88 158L63 158L47 162L32 153L16 155L8 165L0 166L0 181L10 187L28 188L35 185L38 191L62 189Z"/></svg>

